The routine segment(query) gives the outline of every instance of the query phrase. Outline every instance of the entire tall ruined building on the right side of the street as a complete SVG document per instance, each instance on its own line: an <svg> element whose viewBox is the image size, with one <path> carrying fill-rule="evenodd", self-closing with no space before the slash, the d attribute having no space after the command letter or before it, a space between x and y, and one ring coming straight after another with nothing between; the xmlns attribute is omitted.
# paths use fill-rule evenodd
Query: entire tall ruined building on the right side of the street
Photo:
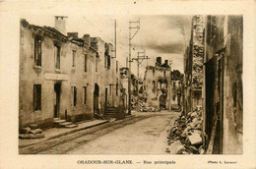
<svg viewBox="0 0 256 169"><path fill-rule="evenodd" d="M205 152L243 150L242 16L195 16L184 54L184 115L202 106Z"/></svg>

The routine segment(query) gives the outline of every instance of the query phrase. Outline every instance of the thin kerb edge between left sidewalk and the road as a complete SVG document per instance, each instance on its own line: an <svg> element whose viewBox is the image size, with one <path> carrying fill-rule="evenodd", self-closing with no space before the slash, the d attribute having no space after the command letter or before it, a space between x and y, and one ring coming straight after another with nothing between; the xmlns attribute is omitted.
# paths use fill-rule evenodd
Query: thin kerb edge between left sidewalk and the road
<svg viewBox="0 0 256 169"><path fill-rule="evenodd" d="M59 135L50 137L50 138L48 138L48 139L46 139L46 140L44 140L44 141L50 141L50 140L53 140L53 139L56 139L56 138L60 138L60 137L66 136L66 135L70 135L70 134L73 134L73 133L76 133L76 132L79 132L79 131L82 131L82 130L90 129L90 128L93 128L93 127L96 127L96 126L100 126L100 125L103 125L103 124L106 124L106 123L109 123L109 120L106 120L106 121L104 121L104 122L97 123L97 124L95 124L95 125L87 126L87 127L84 127L84 128L74 129L74 130L72 130L72 131L68 131L68 132L65 132L65 133L63 133L63 134L59 134ZM19 148L25 148L25 147L31 146L31 145L33 145L33 144L41 143L41 142L44 142L44 141L33 142L33 143L31 143L31 144L19 146Z"/></svg>

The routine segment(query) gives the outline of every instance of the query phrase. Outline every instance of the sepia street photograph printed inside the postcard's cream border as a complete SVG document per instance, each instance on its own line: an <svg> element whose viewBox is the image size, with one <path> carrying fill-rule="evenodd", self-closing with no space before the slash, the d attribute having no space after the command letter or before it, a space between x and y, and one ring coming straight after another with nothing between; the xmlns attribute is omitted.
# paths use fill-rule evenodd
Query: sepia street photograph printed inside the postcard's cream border
<svg viewBox="0 0 256 169"><path fill-rule="evenodd" d="M242 16L20 27L21 154L242 154Z"/></svg>

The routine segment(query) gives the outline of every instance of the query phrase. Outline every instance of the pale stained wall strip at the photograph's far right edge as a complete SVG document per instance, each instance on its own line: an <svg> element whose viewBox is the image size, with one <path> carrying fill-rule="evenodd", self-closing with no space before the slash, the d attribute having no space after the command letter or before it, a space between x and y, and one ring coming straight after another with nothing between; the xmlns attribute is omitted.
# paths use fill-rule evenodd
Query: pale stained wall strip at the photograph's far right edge
<svg viewBox="0 0 256 169"><path fill-rule="evenodd" d="M243 152L243 20L228 16L224 61L224 153ZM229 38L229 39L228 39ZM230 88L230 89L228 89Z"/></svg>

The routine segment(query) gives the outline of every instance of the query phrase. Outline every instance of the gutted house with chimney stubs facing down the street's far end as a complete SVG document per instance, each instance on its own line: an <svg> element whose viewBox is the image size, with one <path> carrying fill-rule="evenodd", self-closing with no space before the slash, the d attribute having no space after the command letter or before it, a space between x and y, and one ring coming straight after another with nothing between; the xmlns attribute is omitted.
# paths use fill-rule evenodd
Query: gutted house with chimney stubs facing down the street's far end
<svg viewBox="0 0 256 169"><path fill-rule="evenodd" d="M161 58L157 58L156 67L147 66L144 83L147 85L147 103L157 109L171 109L171 69L168 60L161 64Z"/></svg>

